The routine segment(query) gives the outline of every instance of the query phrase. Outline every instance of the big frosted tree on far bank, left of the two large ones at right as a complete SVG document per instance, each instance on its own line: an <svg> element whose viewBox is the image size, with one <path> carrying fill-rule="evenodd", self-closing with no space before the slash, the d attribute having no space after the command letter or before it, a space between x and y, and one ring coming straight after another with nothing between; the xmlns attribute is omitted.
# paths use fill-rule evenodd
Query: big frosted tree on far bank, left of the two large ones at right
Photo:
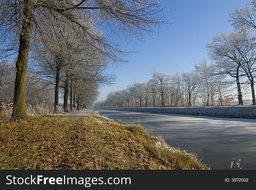
<svg viewBox="0 0 256 190"><path fill-rule="evenodd" d="M219 72L228 74L235 79L237 84L238 102L243 105L243 95L241 91L240 78L245 76L241 72L245 64L245 57L250 54L251 47L247 39L248 32L238 31L232 33L220 33L215 36L211 43L207 43L208 54L212 60L215 60Z"/></svg>

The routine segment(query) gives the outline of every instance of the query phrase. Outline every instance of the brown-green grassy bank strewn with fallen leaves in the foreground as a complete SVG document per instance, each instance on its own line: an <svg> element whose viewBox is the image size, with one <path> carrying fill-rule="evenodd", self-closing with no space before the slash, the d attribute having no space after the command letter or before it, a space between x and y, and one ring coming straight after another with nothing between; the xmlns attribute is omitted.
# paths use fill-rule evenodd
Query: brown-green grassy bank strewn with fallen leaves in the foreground
<svg viewBox="0 0 256 190"><path fill-rule="evenodd" d="M0 126L0 169L206 169L143 127L98 115L27 117Z"/></svg>

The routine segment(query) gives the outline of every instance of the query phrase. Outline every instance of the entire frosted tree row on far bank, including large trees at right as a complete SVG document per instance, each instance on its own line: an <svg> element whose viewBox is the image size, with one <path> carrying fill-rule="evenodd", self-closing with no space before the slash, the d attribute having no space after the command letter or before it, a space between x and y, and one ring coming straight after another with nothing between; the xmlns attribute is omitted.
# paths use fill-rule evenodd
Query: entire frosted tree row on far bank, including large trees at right
<svg viewBox="0 0 256 190"><path fill-rule="evenodd" d="M111 92L95 107L192 106L196 101L204 106L223 105L233 99L229 94L234 86L238 104L243 105L242 88L248 84L256 105L256 0L244 9L235 9L229 21L234 32L221 32L206 44L214 64L203 60L195 63L191 73L154 73L149 82L134 82L125 90Z"/></svg>

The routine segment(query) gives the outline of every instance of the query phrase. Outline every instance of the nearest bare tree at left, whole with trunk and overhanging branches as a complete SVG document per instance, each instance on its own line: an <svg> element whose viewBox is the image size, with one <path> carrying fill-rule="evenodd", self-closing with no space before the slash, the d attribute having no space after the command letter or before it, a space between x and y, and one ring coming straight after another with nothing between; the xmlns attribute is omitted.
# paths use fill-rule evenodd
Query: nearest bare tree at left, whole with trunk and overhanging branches
<svg viewBox="0 0 256 190"><path fill-rule="evenodd" d="M22 118L26 115L24 107L29 47L33 45L33 37L36 35L41 35L43 39L44 33L40 31L42 31L41 27L45 24L45 20L49 19L56 26L69 20L71 28L78 26L81 34L91 36L112 52L118 51L116 46L108 43L107 40L98 39L97 36L94 36L87 24L88 21L96 20L94 24L97 26L104 26L112 32L119 31L139 39L143 39L144 33L151 34L155 31L155 26L164 23L162 20L163 8L159 8L159 2L3 0L0 6L0 33L1 41L4 44L4 51L1 51L1 55L10 55L15 50L18 53L13 118Z"/></svg>

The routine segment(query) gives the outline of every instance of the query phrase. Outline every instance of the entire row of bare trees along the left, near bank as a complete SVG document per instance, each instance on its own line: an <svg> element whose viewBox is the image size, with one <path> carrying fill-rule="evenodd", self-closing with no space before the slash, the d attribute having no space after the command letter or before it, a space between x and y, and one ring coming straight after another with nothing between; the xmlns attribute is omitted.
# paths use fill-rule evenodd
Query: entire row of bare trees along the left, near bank
<svg viewBox="0 0 256 190"><path fill-rule="evenodd" d="M166 23L159 2L1 1L0 59L16 62L12 117L26 116L28 78L44 81L45 87L55 86L55 113L60 91L65 111L72 110L75 103L79 109L92 102L99 86L115 80L113 73L106 72L110 64L126 61L128 53L113 43L115 37L144 40Z"/></svg>

